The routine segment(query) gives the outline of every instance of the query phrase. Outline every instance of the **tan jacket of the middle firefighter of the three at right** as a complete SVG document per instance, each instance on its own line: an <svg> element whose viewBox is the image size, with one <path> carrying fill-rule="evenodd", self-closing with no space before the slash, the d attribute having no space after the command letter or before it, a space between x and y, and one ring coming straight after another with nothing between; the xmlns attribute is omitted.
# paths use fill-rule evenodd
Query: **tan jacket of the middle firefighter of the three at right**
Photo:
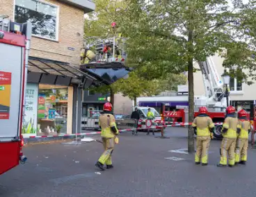
<svg viewBox="0 0 256 197"><path fill-rule="evenodd" d="M226 132L223 132L224 128L227 129ZM221 130L223 137L237 138L237 128L241 128L237 117L227 117L223 123L223 129Z"/></svg>

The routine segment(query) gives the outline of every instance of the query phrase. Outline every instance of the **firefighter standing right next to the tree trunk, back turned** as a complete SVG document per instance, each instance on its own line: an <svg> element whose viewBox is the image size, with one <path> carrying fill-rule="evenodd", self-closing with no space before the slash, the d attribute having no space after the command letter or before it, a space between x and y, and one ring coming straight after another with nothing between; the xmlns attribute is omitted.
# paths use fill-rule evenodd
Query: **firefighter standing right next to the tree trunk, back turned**
<svg viewBox="0 0 256 197"><path fill-rule="evenodd" d="M202 165L206 166L208 163L209 145L215 128L214 123L208 116L207 108L199 108L199 115L193 120L192 127L195 130L195 135L197 135L195 164L200 164L201 160Z"/></svg>

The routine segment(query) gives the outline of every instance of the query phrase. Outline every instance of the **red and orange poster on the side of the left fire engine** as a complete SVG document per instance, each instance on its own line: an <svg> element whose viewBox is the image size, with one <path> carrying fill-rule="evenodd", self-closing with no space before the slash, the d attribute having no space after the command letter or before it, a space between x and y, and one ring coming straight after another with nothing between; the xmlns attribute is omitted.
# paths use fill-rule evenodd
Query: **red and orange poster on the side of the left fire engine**
<svg viewBox="0 0 256 197"><path fill-rule="evenodd" d="M0 119L10 118L11 78L11 73L0 71Z"/></svg>

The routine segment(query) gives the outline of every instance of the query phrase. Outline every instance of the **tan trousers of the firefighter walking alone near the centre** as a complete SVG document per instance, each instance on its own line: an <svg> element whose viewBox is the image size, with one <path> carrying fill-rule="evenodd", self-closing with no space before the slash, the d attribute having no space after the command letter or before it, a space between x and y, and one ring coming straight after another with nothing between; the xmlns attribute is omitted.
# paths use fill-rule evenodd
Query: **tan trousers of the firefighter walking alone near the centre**
<svg viewBox="0 0 256 197"><path fill-rule="evenodd" d="M111 165L112 164L111 155L113 153L114 144L115 144L114 137L112 138L102 137L102 144L104 147L104 153L102 153L98 161L102 164Z"/></svg>

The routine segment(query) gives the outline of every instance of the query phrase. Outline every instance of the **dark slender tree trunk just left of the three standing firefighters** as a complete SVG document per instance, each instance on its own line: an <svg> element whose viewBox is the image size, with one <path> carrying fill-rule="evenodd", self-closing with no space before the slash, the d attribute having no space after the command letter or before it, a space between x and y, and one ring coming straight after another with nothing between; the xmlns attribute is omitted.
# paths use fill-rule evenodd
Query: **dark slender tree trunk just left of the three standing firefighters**
<svg viewBox="0 0 256 197"><path fill-rule="evenodd" d="M189 31L188 52L189 52L189 60L188 60L189 123L191 123L194 119L193 30ZM191 125L189 125L188 151L189 153L195 153L194 131Z"/></svg>

